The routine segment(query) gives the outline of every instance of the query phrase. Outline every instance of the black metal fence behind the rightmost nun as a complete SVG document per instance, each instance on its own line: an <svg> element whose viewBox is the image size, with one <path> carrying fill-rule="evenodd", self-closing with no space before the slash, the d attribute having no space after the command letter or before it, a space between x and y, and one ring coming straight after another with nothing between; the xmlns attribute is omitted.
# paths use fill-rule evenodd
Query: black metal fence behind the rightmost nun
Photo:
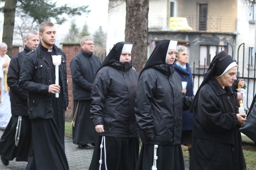
<svg viewBox="0 0 256 170"><path fill-rule="evenodd" d="M231 49L228 48L229 46L231 47ZM249 56L246 57L245 54L244 54L244 50L245 50L244 49L244 43L242 43L239 46L236 57L233 56L234 49L233 49L232 45L229 44L229 43L227 44L227 52L228 52L228 50L231 50L230 53L232 53L232 57L234 58L234 61L237 62L237 64L238 64L238 70L241 70L237 74L237 79L238 80L244 79L245 85L247 86L247 88L246 88L247 94L246 94L246 97L243 98L244 107L245 107L245 110L247 112L248 108L250 108L250 106L251 106L253 97L254 97L255 92L256 92L256 89L255 89L255 84L256 84L256 78L255 78L256 77L256 60L255 60L256 53L253 56L251 56L250 54L252 53L252 51L250 51L250 50L252 50L252 49L249 49ZM241 53L243 54L242 56L239 55ZM210 54L209 54L209 57L211 57ZM191 70L191 71L192 71L193 82L194 82L194 93L196 93L198 87L200 86L200 84L203 81L204 74L208 70L208 67L206 67L206 62L207 62L207 59L205 58L203 68L202 67L197 67L196 66L197 64L196 64L195 61L193 63L193 70ZM241 63L242 63L242 65L241 65ZM198 65L200 66L200 61L198 61Z"/></svg>

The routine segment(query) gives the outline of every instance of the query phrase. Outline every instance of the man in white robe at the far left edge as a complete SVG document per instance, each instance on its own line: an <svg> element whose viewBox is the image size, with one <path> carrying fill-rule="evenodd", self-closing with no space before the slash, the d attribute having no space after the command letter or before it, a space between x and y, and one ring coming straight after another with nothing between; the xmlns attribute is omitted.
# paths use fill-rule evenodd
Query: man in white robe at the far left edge
<svg viewBox="0 0 256 170"><path fill-rule="evenodd" d="M11 119L11 102L7 85L7 73L11 58L6 54L7 45L0 43L0 130L5 130Z"/></svg>

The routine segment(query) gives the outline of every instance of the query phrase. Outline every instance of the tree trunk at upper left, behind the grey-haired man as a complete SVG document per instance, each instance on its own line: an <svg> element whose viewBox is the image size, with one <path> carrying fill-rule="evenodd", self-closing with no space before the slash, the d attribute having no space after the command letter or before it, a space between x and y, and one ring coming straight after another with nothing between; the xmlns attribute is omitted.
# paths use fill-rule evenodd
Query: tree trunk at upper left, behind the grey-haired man
<svg viewBox="0 0 256 170"><path fill-rule="evenodd" d="M14 30L14 18L15 9L17 6L17 0L5 0L3 12L3 38L2 42L6 43L8 46L7 55L12 57L12 41L13 41L13 30Z"/></svg>

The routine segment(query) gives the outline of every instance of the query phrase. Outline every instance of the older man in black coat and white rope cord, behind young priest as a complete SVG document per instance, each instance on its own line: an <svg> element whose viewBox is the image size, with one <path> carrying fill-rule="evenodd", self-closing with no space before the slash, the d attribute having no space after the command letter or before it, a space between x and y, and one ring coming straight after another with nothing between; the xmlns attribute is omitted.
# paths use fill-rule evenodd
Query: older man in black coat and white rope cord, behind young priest
<svg viewBox="0 0 256 170"><path fill-rule="evenodd" d="M31 120L28 118L28 92L19 88L19 73L25 55L38 47L39 36L35 31L25 34L25 48L12 57L8 69L7 83L10 88L12 117L0 140L0 155L3 165L9 160L28 161L31 147ZM17 127L17 129L16 129Z"/></svg>

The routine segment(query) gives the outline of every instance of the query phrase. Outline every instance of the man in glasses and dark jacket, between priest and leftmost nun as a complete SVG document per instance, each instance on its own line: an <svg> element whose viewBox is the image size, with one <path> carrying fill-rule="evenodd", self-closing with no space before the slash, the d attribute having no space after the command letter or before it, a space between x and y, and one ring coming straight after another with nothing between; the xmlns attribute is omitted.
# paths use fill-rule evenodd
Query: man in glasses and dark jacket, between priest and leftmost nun
<svg viewBox="0 0 256 170"><path fill-rule="evenodd" d="M99 58L93 54L93 38L84 36L80 40L81 52L72 58L70 70L73 85L73 143L81 149L90 149L88 143L95 145L97 133L90 120L91 88L96 71L100 68Z"/></svg>

